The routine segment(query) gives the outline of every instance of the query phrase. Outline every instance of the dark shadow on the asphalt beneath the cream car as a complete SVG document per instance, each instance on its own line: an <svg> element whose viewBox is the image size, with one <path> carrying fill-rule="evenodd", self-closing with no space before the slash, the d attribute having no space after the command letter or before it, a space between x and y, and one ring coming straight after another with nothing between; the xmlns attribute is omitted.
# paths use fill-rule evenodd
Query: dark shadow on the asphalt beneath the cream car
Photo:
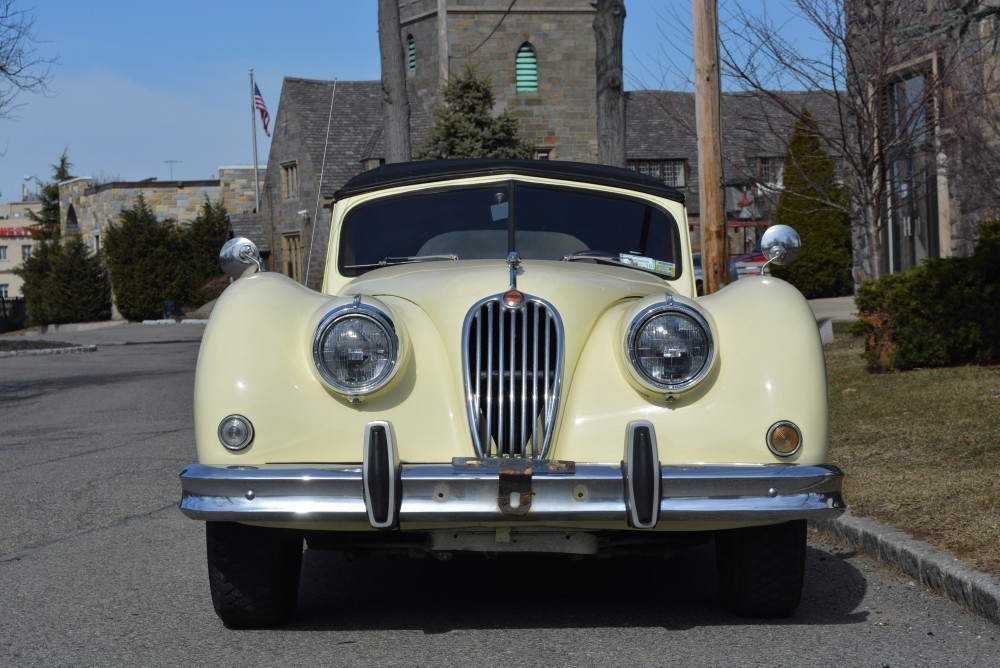
<svg viewBox="0 0 1000 668"><path fill-rule="evenodd" d="M746 620L717 605L712 547L666 560L480 557L438 562L306 551L300 631L665 628L747 624L859 624L863 575L810 547L802 605L789 619Z"/></svg>

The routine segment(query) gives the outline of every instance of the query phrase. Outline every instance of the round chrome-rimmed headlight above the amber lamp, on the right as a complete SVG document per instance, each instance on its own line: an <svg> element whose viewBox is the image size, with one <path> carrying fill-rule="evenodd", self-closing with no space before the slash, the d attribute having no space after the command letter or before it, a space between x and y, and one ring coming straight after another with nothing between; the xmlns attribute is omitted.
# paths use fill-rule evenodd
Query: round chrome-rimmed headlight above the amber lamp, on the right
<svg viewBox="0 0 1000 668"><path fill-rule="evenodd" d="M662 392L679 392L700 381L715 354L705 318L672 300L640 313L629 328L626 346L637 380Z"/></svg>

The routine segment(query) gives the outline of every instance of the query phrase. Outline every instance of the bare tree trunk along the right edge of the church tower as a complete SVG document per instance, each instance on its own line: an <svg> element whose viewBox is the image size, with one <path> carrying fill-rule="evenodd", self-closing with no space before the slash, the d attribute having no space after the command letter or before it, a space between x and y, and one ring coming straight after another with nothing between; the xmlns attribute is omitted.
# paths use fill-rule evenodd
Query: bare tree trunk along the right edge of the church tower
<svg viewBox="0 0 1000 668"><path fill-rule="evenodd" d="M625 3L596 0L597 38L597 162L625 166L625 97L622 39Z"/></svg>

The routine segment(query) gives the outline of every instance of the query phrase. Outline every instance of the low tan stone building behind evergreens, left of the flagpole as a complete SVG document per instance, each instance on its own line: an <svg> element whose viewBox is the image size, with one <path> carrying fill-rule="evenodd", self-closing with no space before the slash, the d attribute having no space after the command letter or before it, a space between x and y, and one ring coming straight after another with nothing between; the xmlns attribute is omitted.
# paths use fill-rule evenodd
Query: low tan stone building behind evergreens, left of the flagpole
<svg viewBox="0 0 1000 668"><path fill-rule="evenodd" d="M263 174L262 174L263 176ZM80 235L94 251L101 248L105 226L142 198L160 220L181 224L198 215L206 200L221 201L231 216L255 209L253 167L220 167L219 178L203 181L113 181L95 183L79 177L59 184L61 233Z"/></svg>

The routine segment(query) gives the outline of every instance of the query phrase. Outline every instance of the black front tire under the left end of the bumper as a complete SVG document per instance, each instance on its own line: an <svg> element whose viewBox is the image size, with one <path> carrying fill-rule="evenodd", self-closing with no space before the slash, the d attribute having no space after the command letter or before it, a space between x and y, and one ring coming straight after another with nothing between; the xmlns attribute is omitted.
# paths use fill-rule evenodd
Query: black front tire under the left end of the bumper
<svg viewBox="0 0 1000 668"><path fill-rule="evenodd" d="M207 522L208 581L215 614L230 628L278 626L295 612L302 535Z"/></svg>

